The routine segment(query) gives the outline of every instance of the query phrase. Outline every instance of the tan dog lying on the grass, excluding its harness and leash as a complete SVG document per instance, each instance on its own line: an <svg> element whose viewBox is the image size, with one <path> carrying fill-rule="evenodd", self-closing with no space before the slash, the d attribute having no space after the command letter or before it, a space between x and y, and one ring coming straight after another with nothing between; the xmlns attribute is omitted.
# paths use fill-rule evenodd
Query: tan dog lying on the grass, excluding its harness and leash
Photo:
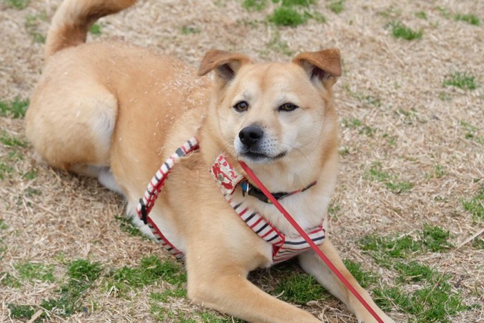
<svg viewBox="0 0 484 323"><path fill-rule="evenodd" d="M200 151L182 158L150 217L185 255L194 302L251 322L319 322L246 279L274 262L272 244L227 203L209 169L223 154L243 174L243 160L305 229L320 228L337 176L338 122L332 86L341 75L338 50L301 54L291 63L254 64L245 55L210 50L198 75L170 57L119 43L84 44L95 19L134 0L66 0L50 27L47 64L26 117L35 151L54 167L96 176L124 194L133 216L153 174L190 137ZM296 234L274 205L245 203L287 237ZM134 216L138 219L138 216ZM138 223L140 221L138 220ZM142 226L148 234L146 226ZM319 248L386 322L392 322L348 273L331 242ZM375 319L312 251L301 267L355 313Z"/></svg>

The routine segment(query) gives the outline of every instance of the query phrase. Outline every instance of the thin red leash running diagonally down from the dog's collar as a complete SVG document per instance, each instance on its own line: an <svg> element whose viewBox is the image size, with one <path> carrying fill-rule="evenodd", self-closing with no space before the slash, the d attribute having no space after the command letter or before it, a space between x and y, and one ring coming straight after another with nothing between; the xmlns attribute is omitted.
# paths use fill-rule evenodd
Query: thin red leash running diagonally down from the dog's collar
<svg viewBox="0 0 484 323"><path fill-rule="evenodd" d="M326 264L326 266L328 266L333 271L333 273L339 278L339 280L341 280L343 282L343 284L345 284L346 287L349 290L351 290L351 293L353 293L353 295L355 295L355 297L360 301L360 303L364 306L364 308L366 308L366 310L368 310L370 312L370 314L373 315L373 317L375 317L375 320L377 320L380 323L384 323L383 320L380 318L380 316L378 316L378 314L375 311L373 311L373 308L371 308L371 306L368 303L366 303L366 301L363 299L362 295L360 295L357 292L357 290L353 286L351 286L350 282L348 282L348 279L346 279L342 275L342 273L340 273L339 270L337 270L335 265L333 265L331 263L331 261L328 259L328 257L326 257L326 255L324 255L322 250L317 248L317 246L313 242L313 240L311 240L310 237L308 237L308 234L306 234L306 232L299 226L299 224L297 224L297 222L294 219L292 219L292 216L290 216L290 214L286 211L286 209L284 209L284 207L282 207L282 205L279 203L279 201L277 201L277 199L275 199L274 196L272 196L272 194L270 194L269 190L262 184L261 181L259 181L259 178L257 178L257 176L255 176L255 174L252 172L252 170L250 170L250 168L241 160L239 160L239 164L242 166L243 170L245 170L245 172L248 174L248 176L252 179L252 181L254 181L255 185L257 185L257 187L259 187L259 189L264 194L266 194L268 199L270 199L272 204L274 204L274 206L277 207L277 210L279 210L279 212L282 213L282 215L286 218L286 220L288 220L289 223L297 230L297 232L299 232L299 234L301 234L301 237L303 237L304 240L306 240L306 242L309 243L309 245L311 246L311 248L313 248L313 250L317 253L317 255L321 259L323 259L324 264Z"/></svg>

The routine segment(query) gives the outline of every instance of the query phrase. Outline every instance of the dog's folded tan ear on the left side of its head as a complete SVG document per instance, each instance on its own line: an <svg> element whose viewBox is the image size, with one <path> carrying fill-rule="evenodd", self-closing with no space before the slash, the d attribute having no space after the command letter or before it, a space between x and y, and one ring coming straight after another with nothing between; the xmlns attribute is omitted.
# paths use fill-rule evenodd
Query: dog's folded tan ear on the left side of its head
<svg viewBox="0 0 484 323"><path fill-rule="evenodd" d="M243 64L252 62L249 57L240 53L230 53L224 50L209 50L202 59L198 76L215 71L218 79L223 83L230 82Z"/></svg>

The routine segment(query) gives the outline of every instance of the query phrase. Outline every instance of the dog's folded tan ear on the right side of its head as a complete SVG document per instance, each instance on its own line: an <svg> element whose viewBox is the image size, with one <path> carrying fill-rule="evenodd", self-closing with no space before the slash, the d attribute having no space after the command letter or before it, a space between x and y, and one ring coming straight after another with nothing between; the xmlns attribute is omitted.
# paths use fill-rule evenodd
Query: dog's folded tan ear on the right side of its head
<svg viewBox="0 0 484 323"><path fill-rule="evenodd" d="M317 78L325 88L333 86L341 76L341 57L337 48L302 53L292 59L292 63L304 68L311 80Z"/></svg>

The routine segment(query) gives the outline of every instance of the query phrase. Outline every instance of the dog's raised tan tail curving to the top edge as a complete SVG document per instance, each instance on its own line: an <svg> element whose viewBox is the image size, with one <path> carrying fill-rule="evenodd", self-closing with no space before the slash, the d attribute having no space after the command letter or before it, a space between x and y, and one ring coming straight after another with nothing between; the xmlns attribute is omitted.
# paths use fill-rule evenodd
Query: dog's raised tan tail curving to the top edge
<svg viewBox="0 0 484 323"><path fill-rule="evenodd" d="M86 41L86 35L100 17L132 6L136 0L64 0L57 8L46 39L45 58Z"/></svg>

